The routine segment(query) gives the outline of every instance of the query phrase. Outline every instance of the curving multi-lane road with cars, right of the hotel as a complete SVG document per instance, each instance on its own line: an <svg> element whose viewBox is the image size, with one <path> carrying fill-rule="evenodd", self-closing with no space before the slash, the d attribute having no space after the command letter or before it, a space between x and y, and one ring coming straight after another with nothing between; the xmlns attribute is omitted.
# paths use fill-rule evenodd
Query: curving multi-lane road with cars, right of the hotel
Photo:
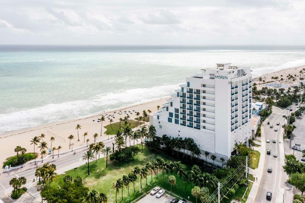
<svg viewBox="0 0 305 203"><path fill-rule="evenodd" d="M293 108L293 106L290 106L290 108ZM285 193L290 189L286 186L286 184L284 184L286 182L286 174L281 165L281 161L283 164L284 160L284 130L282 125L284 124L285 118L283 117L283 114L287 114L286 109L282 110L278 107L273 107L271 116L269 116L262 124L262 130L265 132L265 139L270 139L270 143L266 143L266 150L270 149L271 154L266 154L265 156L262 180L260 181L255 202L283 202L283 194L285 195ZM274 127L270 128L270 125L268 125L267 122L270 122L270 125L273 125ZM280 123L279 126L276 125L277 122ZM275 128L278 128L277 132L274 131ZM276 143L272 142L273 138L276 139ZM264 140L262 140L262 142L264 142ZM267 152L265 151L265 153ZM277 153L278 156L274 157L273 153ZM271 173L267 172L267 168L269 166L272 167ZM273 194L271 200L266 199L267 192L271 192Z"/></svg>

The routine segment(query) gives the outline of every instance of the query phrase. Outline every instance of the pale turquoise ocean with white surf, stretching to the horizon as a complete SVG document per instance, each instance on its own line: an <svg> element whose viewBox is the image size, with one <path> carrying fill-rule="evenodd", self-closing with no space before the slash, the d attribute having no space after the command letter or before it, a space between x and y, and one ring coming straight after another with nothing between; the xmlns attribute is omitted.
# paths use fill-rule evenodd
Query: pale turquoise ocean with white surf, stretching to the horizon
<svg viewBox="0 0 305 203"><path fill-rule="evenodd" d="M0 45L0 133L169 96L217 62L255 77L305 65L305 46Z"/></svg>

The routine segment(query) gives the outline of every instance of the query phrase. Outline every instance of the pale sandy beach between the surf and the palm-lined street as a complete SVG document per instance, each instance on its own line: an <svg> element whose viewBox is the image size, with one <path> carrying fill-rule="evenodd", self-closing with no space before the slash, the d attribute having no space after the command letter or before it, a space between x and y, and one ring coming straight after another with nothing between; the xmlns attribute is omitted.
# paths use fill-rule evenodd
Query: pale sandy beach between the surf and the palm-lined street
<svg viewBox="0 0 305 203"><path fill-rule="evenodd" d="M305 68L305 66L298 66L298 67L293 67L293 68L289 68L289 69L283 69L280 71L276 71L273 73L266 73L260 77L266 77L266 81L271 81L271 77L276 77L278 76L279 79L284 78L284 80L286 80L286 76L288 74L291 74L294 76L294 74L296 74L296 78L297 80L294 82L295 84L297 84L299 82L298 78L300 77L300 70L302 70L303 68ZM259 77L256 77L257 79ZM258 81L255 81L255 78L253 77L253 82L256 82L258 84ZM263 87L263 85L261 86L257 86L258 88ZM168 93L169 95L171 94L171 92ZM132 114L128 113L130 116L130 119L135 119L136 115L135 112L141 112L143 110L148 110L150 109L152 111L152 113L157 111L157 105L160 105L162 107L162 104L166 102L166 98L162 98L159 100L154 100L154 101L150 101L150 102L145 102L145 103L141 103L141 104L136 104L136 105L131 105L128 106L126 108L121 108L121 109L116 109L116 110L112 110L112 111L108 111L108 112L100 112L97 113L95 115L92 116L88 116L85 118L81 118L81 119L73 119L73 120L66 120L66 121L60 121L60 122L55 122L55 123L48 123L48 124L44 124L44 125L39 125L39 126L35 126L35 127L30 127L30 128L26 128L26 129L20 129L20 130L14 130L14 131L10 131L10 132L6 132L6 133L2 133L0 134L0 143L2 144L2 148L0 148L0 162L3 163L5 161L5 159L7 157L13 156L16 153L14 152L14 148L16 146L21 146L27 149L27 152L33 152L34 151L34 146L30 145L30 140L35 137L35 136L39 136L41 134L45 134L45 138L44 141L46 141L48 143L48 147L50 148L51 143L50 143L50 138L53 136L55 137L55 141L52 143L52 147L58 147L59 145L62 146L63 148L61 149L61 152L63 151L67 151L69 150L69 140L67 139L67 137L70 134L74 135L74 140L71 142L74 144L73 148L77 148L80 146L83 146L84 143L84 137L82 136L85 132L88 132L88 136L86 137L86 139L90 139L90 142L93 142L93 134L97 133L100 134L101 131L101 123L97 122L98 118L100 118L102 115L105 115L105 119L106 121L103 122L103 126L106 126L109 124L109 119L107 118L107 115L113 115L112 118L114 120L114 122L118 122L120 118L124 118L124 116L126 116L126 114L124 114L123 111L127 111L127 113L130 111ZM118 113L122 111L123 113L121 115L118 115ZM135 111L135 112L133 112ZM116 112L116 113L114 113ZM95 121L93 121L95 120ZM17 121L16 121L17 122ZM79 138L80 141L77 141L77 130L75 130L77 124L81 125L81 129L79 130ZM106 128L102 128L102 133L104 133L106 131ZM102 134L102 136L98 137L98 140L102 140L102 139L106 139L108 138L108 135L104 135ZM35 151L37 151L37 149L35 148ZM0 171L2 171L2 169L0 169Z"/></svg>

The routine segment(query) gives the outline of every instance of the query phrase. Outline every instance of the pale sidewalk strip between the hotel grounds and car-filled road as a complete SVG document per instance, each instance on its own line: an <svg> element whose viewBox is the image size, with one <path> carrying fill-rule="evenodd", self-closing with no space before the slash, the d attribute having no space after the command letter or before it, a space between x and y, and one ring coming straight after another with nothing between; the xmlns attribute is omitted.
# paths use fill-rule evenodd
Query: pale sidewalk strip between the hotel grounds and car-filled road
<svg viewBox="0 0 305 203"><path fill-rule="evenodd" d="M262 129L264 129L264 124L262 124ZM260 152L260 162L258 164L257 169L250 169L249 173L253 175L254 178L257 178L257 181L255 180L253 182L253 186L251 188L251 191L248 195L246 203L252 203L254 202L254 199L257 195L258 187L260 185L260 181L263 176L263 168L265 163L265 156L266 156L266 142L265 142L265 132L264 130L261 130L261 146L260 147L254 147L254 150L257 150Z"/></svg>

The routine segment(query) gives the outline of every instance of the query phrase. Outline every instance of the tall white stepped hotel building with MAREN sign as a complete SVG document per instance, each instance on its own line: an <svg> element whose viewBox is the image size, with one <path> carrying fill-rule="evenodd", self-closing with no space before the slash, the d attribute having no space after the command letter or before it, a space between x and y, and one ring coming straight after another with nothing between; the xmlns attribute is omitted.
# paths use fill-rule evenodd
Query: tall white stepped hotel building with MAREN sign
<svg viewBox="0 0 305 203"><path fill-rule="evenodd" d="M235 143L251 137L252 74L250 68L217 63L216 68L186 77L186 84L150 116L162 137L191 137L201 150L227 160ZM210 160L211 161L211 160Z"/></svg>

